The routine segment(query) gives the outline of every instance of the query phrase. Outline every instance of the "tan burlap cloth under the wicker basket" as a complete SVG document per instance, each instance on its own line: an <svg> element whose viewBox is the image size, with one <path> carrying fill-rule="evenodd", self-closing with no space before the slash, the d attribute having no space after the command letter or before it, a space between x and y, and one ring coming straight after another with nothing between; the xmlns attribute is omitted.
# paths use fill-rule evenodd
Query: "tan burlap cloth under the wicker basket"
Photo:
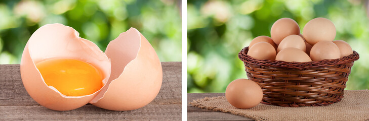
<svg viewBox="0 0 369 121"><path fill-rule="evenodd" d="M281 107L260 103L250 109L238 109L229 104L224 96L205 97L190 104L255 120L369 120L369 90L345 90L340 102L315 107Z"/></svg>

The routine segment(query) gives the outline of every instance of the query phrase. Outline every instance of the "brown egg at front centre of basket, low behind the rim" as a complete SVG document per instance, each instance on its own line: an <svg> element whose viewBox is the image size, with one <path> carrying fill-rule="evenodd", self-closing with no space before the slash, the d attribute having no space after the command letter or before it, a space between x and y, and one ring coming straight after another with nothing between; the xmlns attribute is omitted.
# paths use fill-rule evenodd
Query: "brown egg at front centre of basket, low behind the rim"
<svg viewBox="0 0 369 121"><path fill-rule="evenodd" d="M294 47L282 49L278 52L275 60L285 62L311 62L309 55L301 49Z"/></svg>

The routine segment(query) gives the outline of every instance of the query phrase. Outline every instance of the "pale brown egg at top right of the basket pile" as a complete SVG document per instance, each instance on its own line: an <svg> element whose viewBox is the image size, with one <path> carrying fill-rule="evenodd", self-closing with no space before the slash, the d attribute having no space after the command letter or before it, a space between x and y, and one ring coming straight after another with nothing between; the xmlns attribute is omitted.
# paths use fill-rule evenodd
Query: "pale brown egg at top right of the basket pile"
<svg viewBox="0 0 369 121"><path fill-rule="evenodd" d="M325 18L315 18L306 23L302 31L306 42L314 45L319 41L333 41L336 37L336 27Z"/></svg>

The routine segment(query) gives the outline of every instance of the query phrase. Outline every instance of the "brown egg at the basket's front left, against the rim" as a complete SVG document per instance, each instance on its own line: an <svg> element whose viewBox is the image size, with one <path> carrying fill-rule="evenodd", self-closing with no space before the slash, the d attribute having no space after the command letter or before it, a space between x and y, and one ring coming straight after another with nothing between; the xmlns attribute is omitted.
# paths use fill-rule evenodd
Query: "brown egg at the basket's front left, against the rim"
<svg viewBox="0 0 369 121"><path fill-rule="evenodd" d="M249 49L248 55L256 59L275 59L275 48L268 42L258 42Z"/></svg>

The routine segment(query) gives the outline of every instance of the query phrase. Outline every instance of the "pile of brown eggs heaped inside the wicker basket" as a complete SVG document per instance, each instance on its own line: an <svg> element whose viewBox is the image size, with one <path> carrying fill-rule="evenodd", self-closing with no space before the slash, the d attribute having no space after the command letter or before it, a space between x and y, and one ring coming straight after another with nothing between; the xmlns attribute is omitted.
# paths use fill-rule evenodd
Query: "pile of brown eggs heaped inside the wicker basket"
<svg viewBox="0 0 369 121"><path fill-rule="evenodd" d="M272 25L270 35L254 38L247 54L256 59L311 62L342 58L353 53L347 42L334 41L336 27L326 18L310 20L302 34L296 21L281 18Z"/></svg>

